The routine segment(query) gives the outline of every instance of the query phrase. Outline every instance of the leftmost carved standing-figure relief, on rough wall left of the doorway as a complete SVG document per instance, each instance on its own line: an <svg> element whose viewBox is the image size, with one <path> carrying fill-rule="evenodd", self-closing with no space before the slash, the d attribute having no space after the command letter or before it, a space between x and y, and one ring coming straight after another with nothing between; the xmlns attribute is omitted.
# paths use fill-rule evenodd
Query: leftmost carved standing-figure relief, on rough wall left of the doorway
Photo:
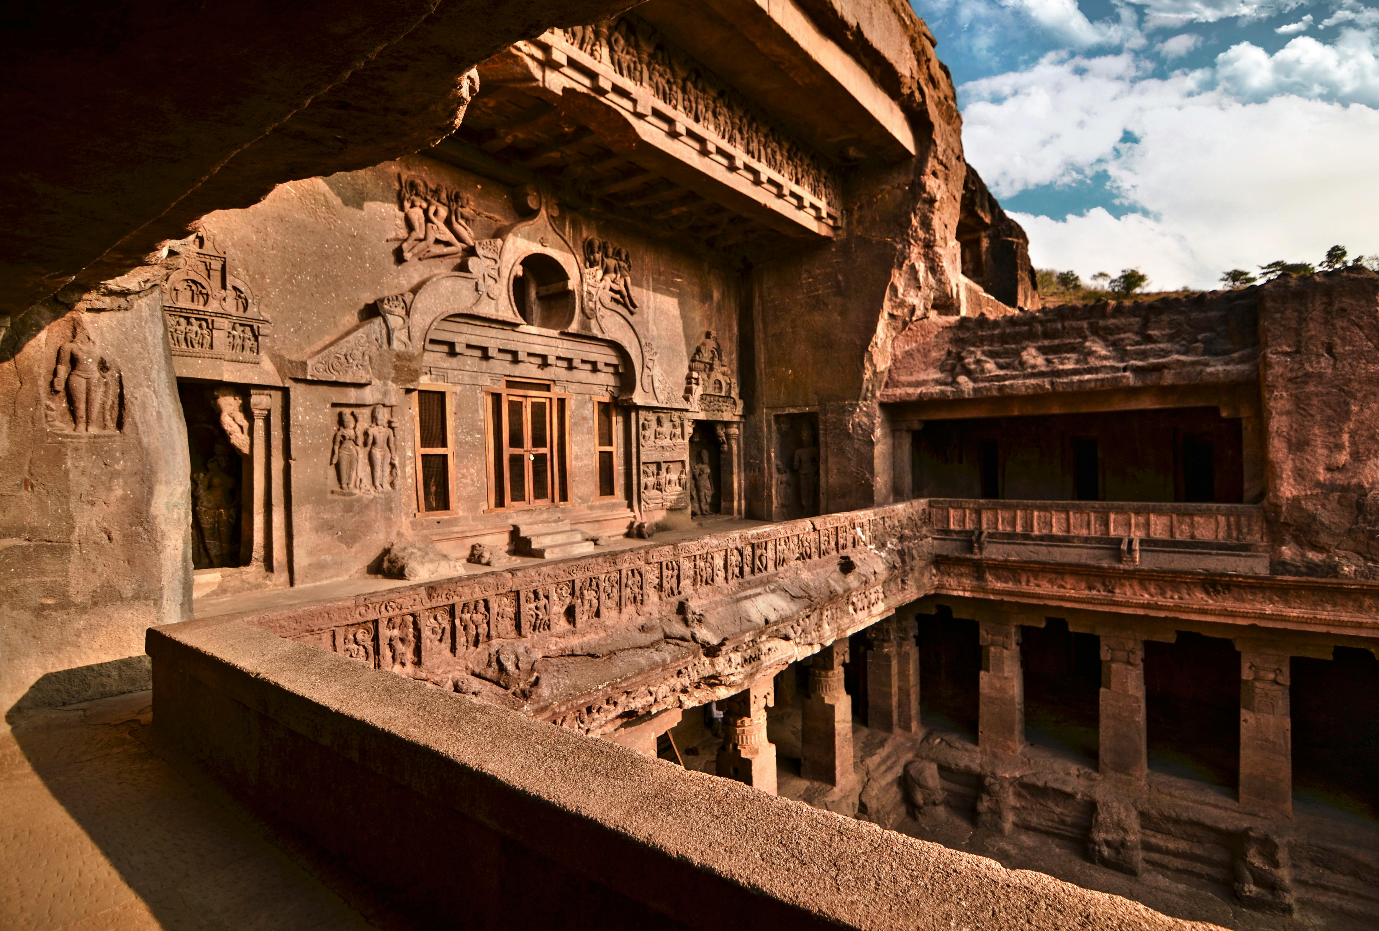
<svg viewBox="0 0 1379 931"><path fill-rule="evenodd" d="M120 366L81 314L70 320L72 339L58 348L44 401L48 427L65 437L117 434L124 427Z"/></svg>

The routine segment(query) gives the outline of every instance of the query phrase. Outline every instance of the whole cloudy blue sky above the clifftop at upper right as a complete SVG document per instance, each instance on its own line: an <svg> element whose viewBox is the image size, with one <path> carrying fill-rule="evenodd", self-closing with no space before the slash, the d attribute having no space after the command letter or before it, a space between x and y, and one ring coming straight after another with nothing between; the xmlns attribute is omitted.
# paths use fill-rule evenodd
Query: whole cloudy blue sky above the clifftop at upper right
<svg viewBox="0 0 1379 931"><path fill-rule="evenodd" d="M1379 7L1357 0L912 0L968 161L1040 267L1379 253Z"/></svg>

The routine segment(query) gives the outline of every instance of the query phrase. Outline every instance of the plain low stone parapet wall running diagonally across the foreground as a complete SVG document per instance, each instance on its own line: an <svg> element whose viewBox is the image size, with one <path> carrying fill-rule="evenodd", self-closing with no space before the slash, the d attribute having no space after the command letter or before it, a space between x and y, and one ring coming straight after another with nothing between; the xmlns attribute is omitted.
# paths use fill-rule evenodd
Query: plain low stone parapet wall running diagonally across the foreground
<svg viewBox="0 0 1379 931"><path fill-rule="evenodd" d="M152 628L154 726L419 919L1209 928L681 770L225 618Z"/></svg>

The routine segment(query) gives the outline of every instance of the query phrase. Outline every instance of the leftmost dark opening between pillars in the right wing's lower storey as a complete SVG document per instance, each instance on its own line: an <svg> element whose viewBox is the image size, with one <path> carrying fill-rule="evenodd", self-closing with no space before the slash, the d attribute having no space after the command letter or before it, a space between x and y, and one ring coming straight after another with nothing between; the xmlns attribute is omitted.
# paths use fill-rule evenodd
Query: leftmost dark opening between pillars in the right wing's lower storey
<svg viewBox="0 0 1379 931"><path fill-rule="evenodd" d="M982 646L976 621L950 609L920 614L920 716L925 727L976 742L980 711Z"/></svg>

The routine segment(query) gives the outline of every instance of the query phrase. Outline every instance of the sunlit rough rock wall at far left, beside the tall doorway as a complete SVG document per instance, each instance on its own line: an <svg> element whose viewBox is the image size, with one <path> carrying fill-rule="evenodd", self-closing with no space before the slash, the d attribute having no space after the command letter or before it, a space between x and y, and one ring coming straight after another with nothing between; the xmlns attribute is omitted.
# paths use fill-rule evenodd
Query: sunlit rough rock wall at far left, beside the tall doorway
<svg viewBox="0 0 1379 931"><path fill-rule="evenodd" d="M30 687L29 704L146 687L143 629L190 611L186 430L161 303L146 291L121 306L87 313L54 302L43 313L57 322L28 332L34 318L21 321L23 348L0 365L7 712ZM59 366L76 325L92 339L77 350L97 362L90 377ZM73 394L88 408L87 430L76 430Z"/></svg>

